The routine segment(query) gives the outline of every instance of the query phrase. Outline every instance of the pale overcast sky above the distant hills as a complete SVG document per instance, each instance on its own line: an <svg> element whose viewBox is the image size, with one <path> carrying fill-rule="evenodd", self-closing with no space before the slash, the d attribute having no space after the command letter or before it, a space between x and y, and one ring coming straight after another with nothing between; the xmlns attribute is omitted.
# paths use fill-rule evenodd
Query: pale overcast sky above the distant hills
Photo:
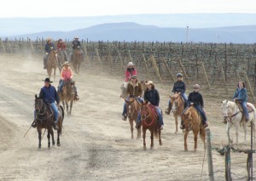
<svg viewBox="0 0 256 181"><path fill-rule="evenodd" d="M7 0L0 18L117 14L256 13L255 0Z"/></svg>

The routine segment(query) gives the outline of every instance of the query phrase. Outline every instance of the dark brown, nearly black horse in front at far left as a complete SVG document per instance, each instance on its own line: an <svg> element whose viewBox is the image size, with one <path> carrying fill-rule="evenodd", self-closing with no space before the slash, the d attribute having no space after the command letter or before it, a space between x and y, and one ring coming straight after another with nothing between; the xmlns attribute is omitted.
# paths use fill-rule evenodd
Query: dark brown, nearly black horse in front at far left
<svg viewBox="0 0 256 181"><path fill-rule="evenodd" d="M38 95L35 95L35 118L37 122L37 129L38 129L38 149L41 148L41 140L42 140L42 128L48 130L47 138L48 138L48 148L50 147L49 138L51 135L52 145L55 145L54 139L54 132L53 132L53 124L54 124L54 113L52 110L49 109L49 106L44 103L43 99L38 98ZM57 138L57 145L60 146L60 134L62 130L62 122L64 119L64 110L62 106L60 106L59 111L59 120L58 120L58 138Z"/></svg>

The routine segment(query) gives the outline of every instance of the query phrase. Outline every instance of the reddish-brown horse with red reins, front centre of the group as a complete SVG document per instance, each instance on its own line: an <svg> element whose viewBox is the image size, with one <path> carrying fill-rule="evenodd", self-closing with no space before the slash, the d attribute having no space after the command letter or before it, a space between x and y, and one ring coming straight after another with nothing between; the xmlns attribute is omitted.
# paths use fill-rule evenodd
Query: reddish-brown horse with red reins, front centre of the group
<svg viewBox="0 0 256 181"><path fill-rule="evenodd" d="M159 129L158 116L154 105L148 105L148 101L143 102L141 109L142 126L143 126L143 149L146 150L146 131L149 129L151 135L150 149L154 147L154 135L159 137L159 144L162 145L161 131Z"/></svg>

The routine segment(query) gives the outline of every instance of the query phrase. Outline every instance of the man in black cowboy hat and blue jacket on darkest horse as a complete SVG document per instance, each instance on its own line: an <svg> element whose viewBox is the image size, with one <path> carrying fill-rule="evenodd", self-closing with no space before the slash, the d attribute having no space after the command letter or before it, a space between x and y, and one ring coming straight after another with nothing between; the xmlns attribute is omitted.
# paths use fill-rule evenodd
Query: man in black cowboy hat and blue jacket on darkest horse
<svg viewBox="0 0 256 181"><path fill-rule="evenodd" d="M44 87L41 88L40 93L39 93L39 99L43 99L44 102L51 107L51 109L54 111L54 117L55 117L55 122L54 122L54 129L58 129L57 123L58 123L58 118L59 118L59 110L58 107L60 105L60 99L59 96L56 92L56 89L54 86L52 86L50 83L51 81L49 78L45 78L44 81ZM57 105L55 105L55 101ZM36 112L34 111L34 121L32 122L32 127L37 127L37 120L36 120Z"/></svg>

